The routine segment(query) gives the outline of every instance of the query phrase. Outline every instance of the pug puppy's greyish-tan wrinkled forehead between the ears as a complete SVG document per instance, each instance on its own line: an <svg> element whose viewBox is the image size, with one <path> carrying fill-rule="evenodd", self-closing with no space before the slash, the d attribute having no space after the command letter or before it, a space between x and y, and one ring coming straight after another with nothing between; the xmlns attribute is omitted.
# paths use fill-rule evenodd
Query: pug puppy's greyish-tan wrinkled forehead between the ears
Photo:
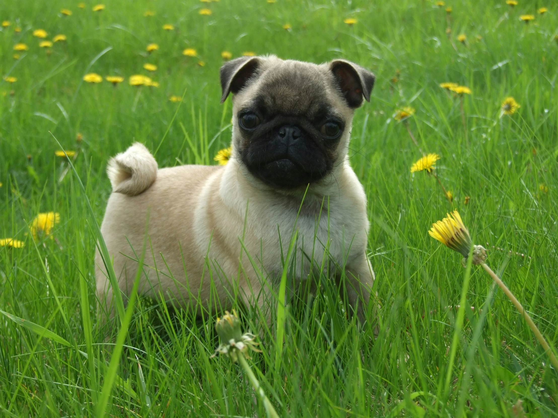
<svg viewBox="0 0 558 418"><path fill-rule="evenodd" d="M253 86L251 104L267 114L315 118L333 107L331 86L318 66L281 62L264 69Z"/></svg>

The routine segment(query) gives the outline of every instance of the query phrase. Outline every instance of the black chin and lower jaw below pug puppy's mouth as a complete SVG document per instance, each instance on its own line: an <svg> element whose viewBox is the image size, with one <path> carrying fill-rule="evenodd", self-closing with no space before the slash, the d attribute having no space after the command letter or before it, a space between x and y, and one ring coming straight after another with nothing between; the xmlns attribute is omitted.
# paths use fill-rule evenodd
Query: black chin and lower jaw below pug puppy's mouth
<svg viewBox="0 0 558 418"><path fill-rule="evenodd" d="M248 170L254 177L276 189L306 187L307 184L319 181L325 176L325 170L308 171L308 168L290 158L278 158L257 166L248 166Z"/></svg>

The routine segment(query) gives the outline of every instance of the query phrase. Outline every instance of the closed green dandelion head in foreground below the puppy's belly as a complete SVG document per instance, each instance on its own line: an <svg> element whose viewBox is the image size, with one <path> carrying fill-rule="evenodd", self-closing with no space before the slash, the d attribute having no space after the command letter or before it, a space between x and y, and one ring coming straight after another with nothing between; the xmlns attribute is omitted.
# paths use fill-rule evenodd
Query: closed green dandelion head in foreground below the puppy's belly
<svg viewBox="0 0 558 418"><path fill-rule="evenodd" d="M240 320L234 309L232 314L225 311L223 318L217 318L215 330L217 331L221 344L215 350L213 357L220 353L232 358L233 361L237 361L237 351L243 353L246 357L249 357L248 349L260 352L256 348L258 346L258 343L255 341L256 337L248 332L242 333Z"/></svg>

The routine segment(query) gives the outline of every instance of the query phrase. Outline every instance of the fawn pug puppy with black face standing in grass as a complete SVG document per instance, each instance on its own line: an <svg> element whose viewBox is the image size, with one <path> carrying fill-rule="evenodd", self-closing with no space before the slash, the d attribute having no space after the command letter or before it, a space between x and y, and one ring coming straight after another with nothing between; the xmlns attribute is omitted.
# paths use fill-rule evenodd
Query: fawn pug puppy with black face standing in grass
<svg viewBox="0 0 558 418"><path fill-rule="evenodd" d="M374 75L345 60L264 56L227 62L220 81L222 103L234 94L225 166L158 169L140 143L108 163L113 192L101 232L124 301L146 225L140 293L210 310L230 308L235 296L261 306L298 230L295 279L334 266L364 319L374 280L367 200L347 151L354 110L370 100ZM97 293L110 316L114 290L104 261L97 252Z"/></svg>

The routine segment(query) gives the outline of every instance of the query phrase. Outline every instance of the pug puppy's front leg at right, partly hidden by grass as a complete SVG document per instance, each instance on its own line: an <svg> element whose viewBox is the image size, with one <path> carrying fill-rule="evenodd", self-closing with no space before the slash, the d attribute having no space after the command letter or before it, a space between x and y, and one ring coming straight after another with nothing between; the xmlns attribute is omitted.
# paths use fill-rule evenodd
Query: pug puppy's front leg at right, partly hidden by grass
<svg viewBox="0 0 558 418"><path fill-rule="evenodd" d="M345 291L347 298L353 309L356 309L358 319L361 323L367 318L366 312L370 301L370 294L374 284L374 270L368 260L368 257L363 254L352 263L345 266ZM376 309L373 310L375 312Z"/></svg>

